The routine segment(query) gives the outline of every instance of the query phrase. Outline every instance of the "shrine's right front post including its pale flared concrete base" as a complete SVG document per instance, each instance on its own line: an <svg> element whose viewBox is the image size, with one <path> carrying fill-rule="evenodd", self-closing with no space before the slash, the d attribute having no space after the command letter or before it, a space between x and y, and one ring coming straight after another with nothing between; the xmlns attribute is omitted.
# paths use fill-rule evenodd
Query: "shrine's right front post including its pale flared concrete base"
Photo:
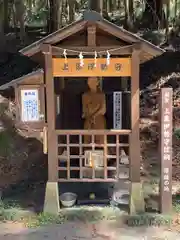
<svg viewBox="0 0 180 240"><path fill-rule="evenodd" d="M133 49L132 75L131 75L131 135L130 135L130 213L144 211L144 198L140 181L140 89L139 89L139 65L140 45Z"/></svg>

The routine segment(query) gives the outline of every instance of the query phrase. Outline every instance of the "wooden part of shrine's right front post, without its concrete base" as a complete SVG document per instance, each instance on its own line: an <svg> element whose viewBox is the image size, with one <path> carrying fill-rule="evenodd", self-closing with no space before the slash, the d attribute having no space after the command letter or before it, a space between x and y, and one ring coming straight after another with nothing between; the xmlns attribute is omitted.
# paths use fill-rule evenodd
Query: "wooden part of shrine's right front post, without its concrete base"
<svg viewBox="0 0 180 240"><path fill-rule="evenodd" d="M131 70L131 135L130 135L130 178L131 182L140 182L140 133L139 133L139 65L140 48L137 46L132 53Z"/></svg>

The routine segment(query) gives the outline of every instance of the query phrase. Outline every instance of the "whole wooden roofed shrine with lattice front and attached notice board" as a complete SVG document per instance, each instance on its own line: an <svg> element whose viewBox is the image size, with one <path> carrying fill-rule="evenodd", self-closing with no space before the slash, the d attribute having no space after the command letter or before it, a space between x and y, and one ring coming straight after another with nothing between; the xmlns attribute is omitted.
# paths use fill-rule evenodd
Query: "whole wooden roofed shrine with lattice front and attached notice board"
<svg viewBox="0 0 180 240"><path fill-rule="evenodd" d="M119 158L122 148L127 149L130 161L129 209L131 213L143 211L144 198L140 182L139 66L163 52L137 35L108 22L94 11L85 12L82 19L20 51L37 62L37 68L4 84L1 89L10 86L15 89L17 126L36 129L36 136L43 135L44 152L48 154L45 211L59 211L58 183L120 181ZM115 84L120 86L121 91L129 91L130 108L129 113L125 114L130 121L128 126L124 123L121 129L114 129L109 123L106 129L83 129L81 111L78 107L72 107L75 102L73 96L78 88L78 94L82 96L87 90L87 79L92 77L100 79L101 86L109 78L108 88ZM67 84L68 81L70 85ZM68 87L71 88L72 95L63 95L64 89ZM71 98L73 100L70 104ZM107 101L112 102L112 99ZM77 102L78 106L82 105L79 100ZM124 106L127 105L124 102ZM28 108L31 109L30 116L26 110ZM106 108L111 111L111 104ZM63 116L66 116L64 120ZM110 117L112 118L109 115ZM89 143L83 140L87 135L91 138ZM103 137L103 142L96 142L97 135ZM114 149L112 153L110 148ZM62 149L66 151L64 166L59 164ZM86 149L103 151L100 177L96 176L94 166L85 166ZM109 159L113 159L113 166L108 165ZM76 166L71 165L73 160L78 161ZM91 177L84 176L84 171L89 168ZM77 172L76 177L72 177L73 171ZM109 176L110 171L115 174Z"/></svg>

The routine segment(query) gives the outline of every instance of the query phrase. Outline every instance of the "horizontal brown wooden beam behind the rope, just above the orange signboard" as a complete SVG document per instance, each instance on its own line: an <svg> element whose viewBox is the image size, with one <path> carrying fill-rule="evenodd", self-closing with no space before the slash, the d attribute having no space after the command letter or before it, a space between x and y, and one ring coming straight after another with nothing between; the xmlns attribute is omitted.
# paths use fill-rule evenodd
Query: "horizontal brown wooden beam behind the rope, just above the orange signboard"
<svg viewBox="0 0 180 240"><path fill-rule="evenodd" d="M72 47L72 46L63 46L60 47L52 47L52 55L53 56L63 56L64 49L67 50L68 55L79 55L80 52L83 52L83 55L94 55L94 52L101 53L101 55L106 55L106 51L109 50L110 54L113 55L131 55L133 51L133 45L122 46L114 45L114 46L82 46L82 47ZM68 51L69 50L69 51Z"/></svg>

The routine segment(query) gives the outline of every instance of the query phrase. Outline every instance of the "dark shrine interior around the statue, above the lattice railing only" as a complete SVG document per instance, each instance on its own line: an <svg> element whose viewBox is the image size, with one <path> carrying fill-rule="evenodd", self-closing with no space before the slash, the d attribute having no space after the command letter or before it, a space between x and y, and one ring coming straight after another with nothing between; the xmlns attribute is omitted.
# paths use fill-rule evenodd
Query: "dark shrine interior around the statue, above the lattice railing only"
<svg viewBox="0 0 180 240"><path fill-rule="evenodd" d="M54 85L56 129L83 129L82 94L88 91L87 78L55 78ZM100 88L106 97L106 129L113 129L114 92L122 92L122 129L130 129L130 78L101 78Z"/></svg>

